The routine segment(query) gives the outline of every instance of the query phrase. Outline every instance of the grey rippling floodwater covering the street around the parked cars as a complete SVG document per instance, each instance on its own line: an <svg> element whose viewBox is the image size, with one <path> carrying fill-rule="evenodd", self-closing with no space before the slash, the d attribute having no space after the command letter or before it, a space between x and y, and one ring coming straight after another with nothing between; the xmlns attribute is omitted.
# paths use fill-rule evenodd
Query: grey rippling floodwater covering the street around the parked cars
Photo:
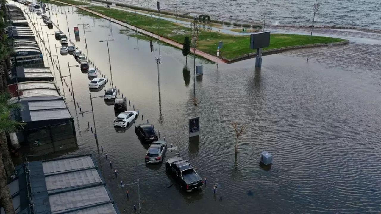
<svg viewBox="0 0 381 214"><path fill-rule="evenodd" d="M55 13L56 7L51 8ZM75 118L79 149L74 153L94 155L122 213L133 213L134 204L138 207L138 191L133 185L128 188L118 185L121 180L123 184L135 182L138 177L142 213L380 211L381 86L366 84L375 76L379 78L379 74L358 67L354 67L357 72L325 68L313 59L308 62L303 57L284 54L265 56L260 70L254 68L255 59L220 64L218 69L215 64L196 59L204 72L203 79L196 80L196 96L201 100L197 109L201 131L199 139L190 142L187 119L195 113L193 75L183 73L185 58L181 50L160 45L159 100L156 43L151 53L149 42L120 34L123 27L110 25L104 19L73 14L71 8L64 10L70 11L67 22L65 14L60 12L57 18L52 17L53 22L58 19L66 34L69 26L72 41L75 41L74 26L90 24L85 29L88 56L109 80L107 45L99 41L115 40L109 42L113 84L131 101L129 110L133 105L139 109L136 124L148 119L161 137L178 146L181 156L191 161L202 177L208 178L205 189L185 194L176 185L163 187L171 182L164 165L136 167L136 163L144 161L147 146L136 138L133 128L113 127L113 106L106 105L102 98L93 99L99 147L103 147L103 152L98 152L93 134L87 128L88 121L93 126L91 113L82 117L75 112L66 85L58 78ZM49 34L55 30L43 26L43 31ZM79 32L80 42L75 44L86 53L82 26ZM49 35L49 40L53 52L54 44L59 46L59 42L53 35ZM188 57L189 68L193 67L192 61ZM59 55L64 76L69 74L68 62L78 65L74 57ZM71 74L76 102L82 111L90 110L86 73L71 67ZM68 77L66 81L69 85ZM109 87L107 83L106 88ZM94 92L92 96L102 93L103 90ZM236 161L232 121L248 126L240 137ZM259 154L265 150L274 155L269 171L259 166ZM176 155L177 151L168 152L166 158ZM212 185L218 185L217 197L213 195ZM130 193L129 199L126 191Z"/></svg>

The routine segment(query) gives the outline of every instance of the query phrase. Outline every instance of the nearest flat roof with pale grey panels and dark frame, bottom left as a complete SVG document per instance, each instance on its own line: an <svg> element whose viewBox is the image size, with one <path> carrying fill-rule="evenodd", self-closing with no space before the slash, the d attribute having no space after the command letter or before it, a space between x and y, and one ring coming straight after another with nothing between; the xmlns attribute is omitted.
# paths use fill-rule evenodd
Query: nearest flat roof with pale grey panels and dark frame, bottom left
<svg viewBox="0 0 381 214"><path fill-rule="evenodd" d="M16 213L120 214L92 155L32 161L17 171L8 184Z"/></svg>

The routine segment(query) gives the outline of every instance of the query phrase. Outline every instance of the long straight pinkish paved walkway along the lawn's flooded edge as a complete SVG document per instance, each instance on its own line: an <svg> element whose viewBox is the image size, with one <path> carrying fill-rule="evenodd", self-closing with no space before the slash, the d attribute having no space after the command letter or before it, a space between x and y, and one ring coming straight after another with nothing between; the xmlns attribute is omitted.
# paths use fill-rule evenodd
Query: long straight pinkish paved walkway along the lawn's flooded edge
<svg viewBox="0 0 381 214"><path fill-rule="evenodd" d="M55 1L55 0L51 0L51 1L52 1L52 2L59 2L59 1ZM64 3L64 2L59 2L59 3L63 3L63 4L66 4L66 5L71 5L71 4L69 4L69 3ZM136 26L132 26L132 25L130 25L130 24L126 24L126 23L124 23L124 22L122 22L122 21L119 21L119 20L117 20L117 19L110 18L109 16L105 16L105 15L103 15L103 14L101 14L101 13L92 11L92 10L90 10L90 9L84 7L84 6L77 6L77 5L71 5L71 6L80 8L81 10L85 10L85 11L87 11L87 12L89 12L89 13L92 13L92 14L95 14L95 15L97 15L97 16L100 16L100 17L102 17L102 18L104 18L104 19L110 20L111 22L114 22L115 24L118 24L118 25L123 26L123 27L127 27L127 28L129 28L129 29L131 29L131 30L137 31L137 32L140 33L140 34L146 35L146 36L151 37L151 38L155 38L156 40L157 40L157 38L159 38L159 41L165 42L165 43L167 43L168 45L171 45L171 46L174 46L174 47L176 47L176 48L182 49L182 44L177 43L177 42L174 42L173 40L170 40L170 39L168 39L168 38L159 37L159 35L153 34L152 32L149 32L149 31L147 31L147 30L140 29L140 28L138 28L138 27L136 27ZM191 52L193 53L193 49L192 49L192 48L191 48ZM205 59L207 59L207 60L209 60L209 61L212 61L212 62L216 62L216 63L217 63L217 61L218 61L218 63L226 63L224 60L219 59L219 58L217 58L216 56L212 56L212 55L210 55L210 54L204 53L204 52L202 52L202 51L200 51L200 50L197 50L197 49L196 49L196 53L195 53L195 54L196 54L197 56L200 56L200 57L205 58Z"/></svg>

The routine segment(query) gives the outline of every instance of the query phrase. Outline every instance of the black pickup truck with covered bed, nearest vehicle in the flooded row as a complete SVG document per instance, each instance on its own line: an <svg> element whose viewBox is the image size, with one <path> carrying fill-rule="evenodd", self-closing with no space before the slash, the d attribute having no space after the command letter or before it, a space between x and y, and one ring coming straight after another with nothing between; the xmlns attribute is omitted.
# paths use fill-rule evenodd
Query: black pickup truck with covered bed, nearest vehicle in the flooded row
<svg viewBox="0 0 381 214"><path fill-rule="evenodd" d="M179 183L181 190L192 192L202 188L203 180L187 160L180 157L169 158L165 169Z"/></svg>

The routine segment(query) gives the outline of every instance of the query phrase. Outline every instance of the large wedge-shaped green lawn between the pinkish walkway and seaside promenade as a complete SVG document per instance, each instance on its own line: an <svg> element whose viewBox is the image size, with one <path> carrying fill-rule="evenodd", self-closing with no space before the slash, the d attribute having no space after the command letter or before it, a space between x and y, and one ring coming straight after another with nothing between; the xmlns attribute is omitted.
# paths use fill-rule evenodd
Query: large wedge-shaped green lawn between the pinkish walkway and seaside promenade
<svg viewBox="0 0 381 214"><path fill-rule="evenodd" d="M119 21L126 22L133 26L137 26L141 29L148 30L150 32L153 32L154 34L159 34L161 36L170 38L179 43L184 42L185 36L189 36L189 38L191 38L190 26L182 26L180 24L176 24L175 22L151 18L149 16L125 12L117 9L106 8L102 6L90 6L89 9L109 16L111 18L118 19ZM210 34L210 31L208 31L207 29L203 29L202 26L199 27L199 29L200 30L198 49L205 53L215 56L219 41L223 41L224 43L223 49L221 49L220 57L225 57L226 59L233 59L235 57L242 56L243 54L255 52L255 50L250 50L249 48L249 35L237 36L222 34L214 31L212 31L212 33ZM268 48L264 48L264 50L295 45L341 41L344 40L340 38L330 37L310 37L306 35L272 34L270 39L270 46Z"/></svg>

